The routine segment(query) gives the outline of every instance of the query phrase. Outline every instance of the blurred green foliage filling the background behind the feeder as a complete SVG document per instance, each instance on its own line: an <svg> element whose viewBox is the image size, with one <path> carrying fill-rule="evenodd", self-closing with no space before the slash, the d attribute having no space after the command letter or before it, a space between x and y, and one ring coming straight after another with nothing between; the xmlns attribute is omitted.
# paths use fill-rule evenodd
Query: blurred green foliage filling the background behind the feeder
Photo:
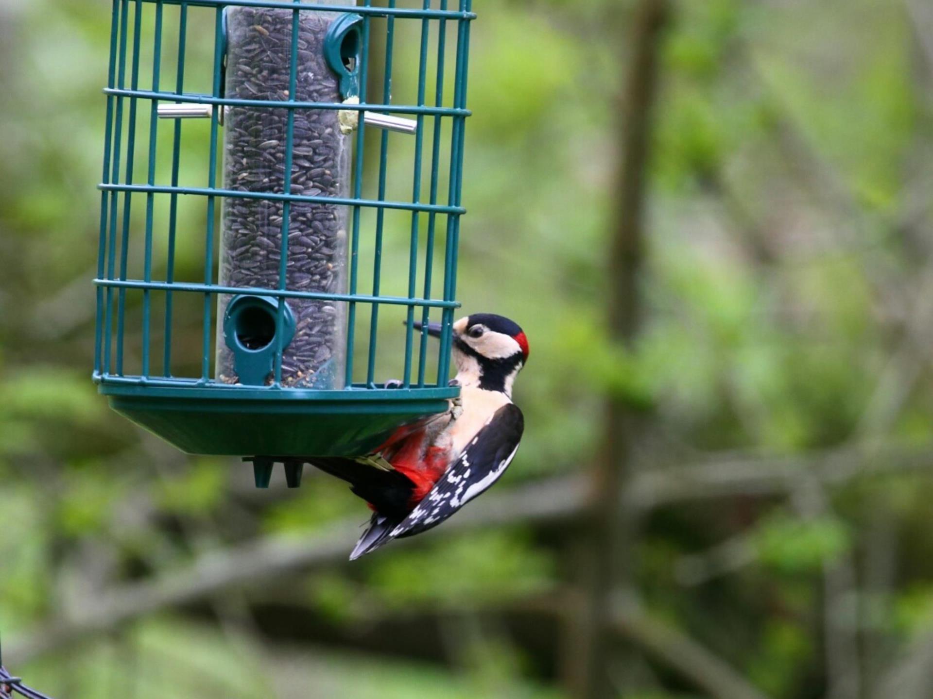
<svg viewBox="0 0 933 699"><path fill-rule="evenodd" d="M603 300L632 5L477 4L459 296L467 312L515 318L532 344L516 391L526 438L501 487L586 470L606 397L645 418L643 472L739 458L767 469L781 457L805 485L808 469L853 465L824 459L833 449L929 448L933 57L912 15L870 0L673 4L654 112L645 320L626 350L606 341ZM109 21L104 0L0 7L0 60L16 66L0 75L0 629L11 643L108 585L259 536L295 540L366 518L323 477L287 496L255 493L235 459L175 454L95 395L90 280ZM192 11L192 36L209 22ZM209 48L193 42L191 52L203 66L190 76L196 90ZM397 89L411 89L415 67L397 65ZM206 171L199 128L186 136L186 182ZM408 145L393 143L390 186L410 196ZM205 215L184 198L179 215L179 276L193 278ZM386 268L407 264L410 225L387 216ZM165 243L156 240L157 267ZM197 363L197 318L179 318L176 355ZM403 343L398 320L387 313L381 326L385 376ZM868 453L865 469L898 467ZM846 604L858 608L850 622L866 667L933 628L933 492L919 466L840 479L818 514L793 492L661 508L626 564L652 610L763 692L813 696L828 672L828 569L855 561ZM74 699L161 695L168 677L180 696L252 696L258 686L282 697L555 696L559 668L502 620L572 582L562 537L573 532L557 529L432 534L355 567L147 617L16 670ZM733 538L745 557L721 564L717 547ZM685 556L709 564L703 583L677 579ZM270 599L325 620L341 644L315 640L313 628L294 643L277 628L260 633L244 609ZM368 624L417 613L460 624L443 643L425 641L443 646L445 667L361 657L373 650L362 642L354 650ZM477 621L489 616L499 623ZM875 636L884 651L869 657ZM880 680L870 672L868 684ZM698 695L661 668L643 674L654 689L626 696Z"/></svg>

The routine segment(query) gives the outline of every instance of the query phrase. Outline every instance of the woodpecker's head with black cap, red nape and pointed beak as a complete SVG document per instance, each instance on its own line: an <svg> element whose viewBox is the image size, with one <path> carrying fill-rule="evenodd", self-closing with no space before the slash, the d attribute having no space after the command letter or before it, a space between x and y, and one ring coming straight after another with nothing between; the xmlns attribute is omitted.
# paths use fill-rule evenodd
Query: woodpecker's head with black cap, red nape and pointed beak
<svg viewBox="0 0 933 699"><path fill-rule="evenodd" d="M420 328L421 323L415 323ZM440 323L429 323L439 337ZM515 377L528 361L528 339L518 323L492 313L475 313L453 323L453 361L462 386L502 391L509 397Z"/></svg>

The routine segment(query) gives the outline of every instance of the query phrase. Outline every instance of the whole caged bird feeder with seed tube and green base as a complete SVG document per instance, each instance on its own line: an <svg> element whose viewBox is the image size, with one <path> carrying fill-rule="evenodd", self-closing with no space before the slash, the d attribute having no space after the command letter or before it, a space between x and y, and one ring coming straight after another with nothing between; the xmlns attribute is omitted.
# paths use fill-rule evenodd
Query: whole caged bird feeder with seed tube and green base
<svg viewBox="0 0 933 699"><path fill-rule="evenodd" d="M458 391L447 379L471 0L351 2L113 4L94 380L118 413L181 450L252 460L260 486L276 462L296 486L302 459L365 454ZM410 103L391 89L402 22L420 36ZM377 37L382 96L368 103ZM212 64L192 67L192 55ZM209 92L187 91L196 68ZM188 146L196 128L202 153ZM404 199L386 197L390 137L411 139ZM195 157L202 181L185 181L182 158ZM180 225L192 200L197 230ZM383 269L387 211L411 215L407 268ZM176 260L183 248L201 251L193 279ZM397 275L408 293L381 294ZM179 347L182 306L197 309L200 336ZM385 306L406 310L393 388L375 374ZM437 346L428 321L442 324ZM368 353L355 368L361 322Z"/></svg>

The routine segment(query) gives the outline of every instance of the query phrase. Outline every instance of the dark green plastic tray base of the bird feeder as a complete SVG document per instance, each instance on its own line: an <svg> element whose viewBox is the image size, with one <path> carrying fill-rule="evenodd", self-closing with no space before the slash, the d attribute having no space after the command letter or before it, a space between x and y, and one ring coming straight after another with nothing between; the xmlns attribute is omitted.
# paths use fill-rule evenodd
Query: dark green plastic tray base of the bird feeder
<svg viewBox="0 0 933 699"><path fill-rule="evenodd" d="M367 454L400 424L446 411L457 391L100 386L120 415L188 454L277 460Z"/></svg>

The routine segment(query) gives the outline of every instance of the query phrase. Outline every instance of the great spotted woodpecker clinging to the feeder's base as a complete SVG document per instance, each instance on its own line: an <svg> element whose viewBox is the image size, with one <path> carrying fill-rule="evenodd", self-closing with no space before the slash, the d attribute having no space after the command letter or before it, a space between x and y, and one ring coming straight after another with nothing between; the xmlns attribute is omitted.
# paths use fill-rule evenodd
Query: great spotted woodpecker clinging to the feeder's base
<svg viewBox="0 0 933 699"><path fill-rule="evenodd" d="M421 323L416 323L422 329ZM427 332L440 336L440 324ZM350 560L441 522L492 486L518 451L524 418L512 403L528 340L508 318L479 313L453 323L460 399L426 423L399 428L359 459L311 459L369 502L369 528Z"/></svg>

